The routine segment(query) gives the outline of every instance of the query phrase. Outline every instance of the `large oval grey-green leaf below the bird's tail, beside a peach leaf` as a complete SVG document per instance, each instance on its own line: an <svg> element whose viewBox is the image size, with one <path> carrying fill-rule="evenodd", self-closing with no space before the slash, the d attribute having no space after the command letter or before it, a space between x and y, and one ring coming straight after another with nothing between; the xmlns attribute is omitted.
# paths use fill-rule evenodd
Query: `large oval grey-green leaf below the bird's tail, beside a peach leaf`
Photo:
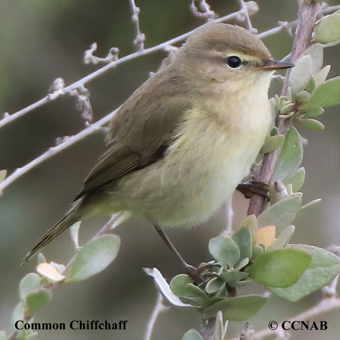
<svg viewBox="0 0 340 340"><path fill-rule="evenodd" d="M79 282L103 271L117 256L120 239L117 235L102 235L89 243L75 256L66 275L68 282Z"/></svg>

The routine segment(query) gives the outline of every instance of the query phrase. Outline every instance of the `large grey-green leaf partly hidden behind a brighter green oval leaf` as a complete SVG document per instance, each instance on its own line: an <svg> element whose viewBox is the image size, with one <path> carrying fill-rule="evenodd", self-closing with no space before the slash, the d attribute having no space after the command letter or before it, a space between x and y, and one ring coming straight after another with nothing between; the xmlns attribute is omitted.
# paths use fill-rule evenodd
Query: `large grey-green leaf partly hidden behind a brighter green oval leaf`
<svg viewBox="0 0 340 340"><path fill-rule="evenodd" d="M296 302L329 282L340 272L339 258L322 248L308 244L287 244L289 249L299 249L311 256L307 270L297 282L287 288L267 287L272 293Z"/></svg>

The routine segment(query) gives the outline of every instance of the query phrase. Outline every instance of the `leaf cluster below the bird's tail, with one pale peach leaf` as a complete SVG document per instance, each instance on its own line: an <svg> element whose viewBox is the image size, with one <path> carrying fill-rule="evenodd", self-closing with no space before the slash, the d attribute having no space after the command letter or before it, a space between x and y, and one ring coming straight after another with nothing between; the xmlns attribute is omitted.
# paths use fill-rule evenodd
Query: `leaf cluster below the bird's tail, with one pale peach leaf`
<svg viewBox="0 0 340 340"><path fill-rule="evenodd" d="M38 256L36 273L29 273L19 283L20 303L13 312L13 322L32 322L33 314L51 301L56 285L80 282L103 271L117 256L120 239L117 235L101 235L84 245L72 260L69 268L54 262L47 263ZM26 340L36 333L18 330L16 339Z"/></svg>

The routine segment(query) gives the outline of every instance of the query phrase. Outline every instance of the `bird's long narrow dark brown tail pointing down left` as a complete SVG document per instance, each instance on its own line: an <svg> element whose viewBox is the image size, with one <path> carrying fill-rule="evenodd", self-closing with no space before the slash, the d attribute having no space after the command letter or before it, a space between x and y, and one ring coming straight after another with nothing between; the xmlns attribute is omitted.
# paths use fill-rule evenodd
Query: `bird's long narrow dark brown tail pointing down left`
<svg viewBox="0 0 340 340"><path fill-rule="evenodd" d="M66 213L66 215L57 222L51 229L49 229L46 234L41 237L37 244L26 254L22 259L21 266L27 262L36 252L43 249L49 243L54 241L57 237L63 234L72 224L78 222L82 217L82 212L80 209L83 199L78 200L72 206L72 208Z"/></svg>

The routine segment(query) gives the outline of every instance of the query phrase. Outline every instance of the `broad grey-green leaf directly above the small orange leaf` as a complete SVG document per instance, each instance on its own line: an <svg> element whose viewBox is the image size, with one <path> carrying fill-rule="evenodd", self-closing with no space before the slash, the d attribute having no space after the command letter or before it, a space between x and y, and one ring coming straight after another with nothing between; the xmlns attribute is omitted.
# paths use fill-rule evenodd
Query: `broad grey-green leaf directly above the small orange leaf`
<svg viewBox="0 0 340 340"><path fill-rule="evenodd" d="M279 234L292 224L300 207L301 194L295 193L263 211L257 218L258 226L260 228L266 225L275 225L276 233Z"/></svg>

